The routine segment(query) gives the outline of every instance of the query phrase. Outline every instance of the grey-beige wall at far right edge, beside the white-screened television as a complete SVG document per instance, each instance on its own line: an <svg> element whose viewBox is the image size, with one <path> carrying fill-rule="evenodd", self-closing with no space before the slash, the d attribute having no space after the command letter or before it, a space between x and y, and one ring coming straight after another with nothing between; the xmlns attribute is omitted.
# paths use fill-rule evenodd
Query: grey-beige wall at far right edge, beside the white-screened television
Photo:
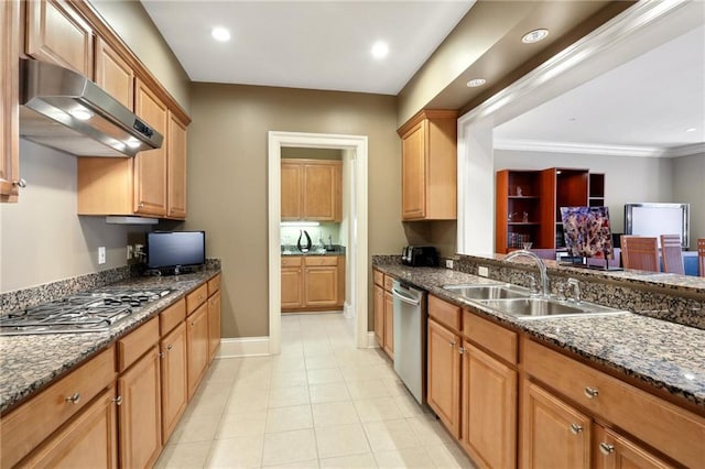
<svg viewBox="0 0 705 469"><path fill-rule="evenodd" d="M673 159L673 200L691 204L691 251L705 238L705 153Z"/></svg>

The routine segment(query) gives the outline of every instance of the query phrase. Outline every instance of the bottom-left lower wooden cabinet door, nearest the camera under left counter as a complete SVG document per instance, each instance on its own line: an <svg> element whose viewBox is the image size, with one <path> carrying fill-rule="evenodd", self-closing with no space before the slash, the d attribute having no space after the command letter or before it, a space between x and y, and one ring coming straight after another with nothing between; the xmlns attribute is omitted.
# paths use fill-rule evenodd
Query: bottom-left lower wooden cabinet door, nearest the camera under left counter
<svg viewBox="0 0 705 469"><path fill-rule="evenodd" d="M22 466L117 468L117 422L115 388L110 386L25 459Z"/></svg>

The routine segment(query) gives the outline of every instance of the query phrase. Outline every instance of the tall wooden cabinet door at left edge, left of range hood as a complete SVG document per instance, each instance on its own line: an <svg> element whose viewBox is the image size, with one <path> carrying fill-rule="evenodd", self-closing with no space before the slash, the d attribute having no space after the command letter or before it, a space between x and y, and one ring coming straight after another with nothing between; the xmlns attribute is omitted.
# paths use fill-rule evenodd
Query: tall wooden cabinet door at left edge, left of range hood
<svg viewBox="0 0 705 469"><path fill-rule="evenodd" d="M0 2L0 201L15 201L20 172L19 0Z"/></svg>

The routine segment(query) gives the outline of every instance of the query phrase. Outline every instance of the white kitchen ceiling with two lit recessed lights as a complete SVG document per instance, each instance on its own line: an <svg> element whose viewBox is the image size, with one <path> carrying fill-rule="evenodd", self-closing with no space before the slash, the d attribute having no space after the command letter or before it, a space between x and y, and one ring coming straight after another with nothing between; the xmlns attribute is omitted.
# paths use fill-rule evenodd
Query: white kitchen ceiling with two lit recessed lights
<svg viewBox="0 0 705 469"><path fill-rule="evenodd" d="M474 2L142 0L193 81L383 95L399 94ZM213 40L218 25L229 42ZM377 41L383 59L370 53Z"/></svg>

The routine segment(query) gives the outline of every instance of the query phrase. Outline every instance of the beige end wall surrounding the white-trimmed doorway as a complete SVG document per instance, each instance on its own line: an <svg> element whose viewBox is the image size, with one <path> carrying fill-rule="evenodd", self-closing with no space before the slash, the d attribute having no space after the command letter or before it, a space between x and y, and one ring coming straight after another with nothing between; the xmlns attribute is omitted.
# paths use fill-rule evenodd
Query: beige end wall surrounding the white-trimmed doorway
<svg viewBox="0 0 705 469"><path fill-rule="evenodd" d="M223 335L268 335L268 131L367 135L369 253L401 252L394 97L193 84L188 229L223 260ZM371 298L371 295L370 295Z"/></svg>

